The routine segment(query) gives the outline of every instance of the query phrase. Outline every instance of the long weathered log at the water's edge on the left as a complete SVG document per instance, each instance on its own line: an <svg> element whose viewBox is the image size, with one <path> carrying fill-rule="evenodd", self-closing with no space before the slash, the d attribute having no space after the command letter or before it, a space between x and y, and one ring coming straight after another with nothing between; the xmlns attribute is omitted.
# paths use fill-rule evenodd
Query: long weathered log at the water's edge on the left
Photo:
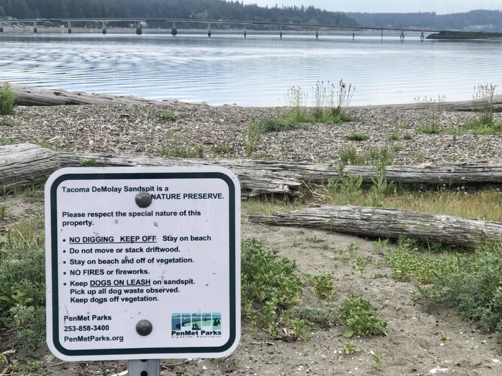
<svg viewBox="0 0 502 376"><path fill-rule="evenodd" d="M0 81L0 87L9 84ZM104 95L85 93L80 91L66 91L59 89L42 89L27 87L18 84L9 84L11 90L16 94L16 104L18 106L62 106L79 104L156 104L166 106L183 106L189 103L177 100L165 100L162 102L151 99L137 98L128 95ZM193 105L207 105L206 103L193 103Z"/></svg>

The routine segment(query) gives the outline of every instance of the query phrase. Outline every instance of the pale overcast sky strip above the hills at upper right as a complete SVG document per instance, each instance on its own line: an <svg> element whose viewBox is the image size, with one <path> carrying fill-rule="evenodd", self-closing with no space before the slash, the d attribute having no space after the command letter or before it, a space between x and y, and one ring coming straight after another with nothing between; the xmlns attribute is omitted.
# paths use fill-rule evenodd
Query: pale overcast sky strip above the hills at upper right
<svg viewBox="0 0 502 376"><path fill-rule="evenodd" d="M468 12L474 9L502 10L502 0L243 0L259 6L313 5L328 11L406 13L436 12L437 14Z"/></svg>

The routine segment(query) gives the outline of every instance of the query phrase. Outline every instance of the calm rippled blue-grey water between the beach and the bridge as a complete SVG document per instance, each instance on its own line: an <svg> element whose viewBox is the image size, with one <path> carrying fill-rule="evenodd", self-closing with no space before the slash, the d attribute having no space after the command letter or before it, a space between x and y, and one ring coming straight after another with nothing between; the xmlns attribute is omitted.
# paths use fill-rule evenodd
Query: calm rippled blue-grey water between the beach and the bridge
<svg viewBox="0 0 502 376"><path fill-rule="evenodd" d="M351 104L470 99L502 84L502 41L277 35L0 35L0 81L151 99L273 106L318 81L355 86ZM500 91L498 91L500 92Z"/></svg>

